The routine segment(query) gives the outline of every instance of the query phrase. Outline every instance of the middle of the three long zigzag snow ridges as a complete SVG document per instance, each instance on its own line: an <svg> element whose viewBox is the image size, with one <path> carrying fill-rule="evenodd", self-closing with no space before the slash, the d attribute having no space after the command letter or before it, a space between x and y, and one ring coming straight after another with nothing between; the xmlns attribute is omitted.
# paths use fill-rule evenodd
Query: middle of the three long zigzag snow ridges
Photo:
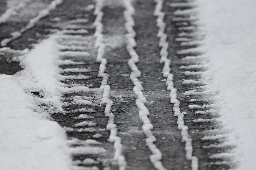
<svg viewBox="0 0 256 170"><path fill-rule="evenodd" d="M135 41L135 31L133 29L133 26L135 26L135 22L133 20L133 14L135 13L135 9L133 8L132 5L132 0L123 0L124 5L125 5L125 12L124 12L124 17L126 19L125 23L125 28L127 31L126 38L127 38L127 45L126 45L126 50L131 56L130 60L128 61L128 65L131 69L131 74L130 74L130 79L133 82L133 92L135 93L137 99L136 99L136 106L138 107L139 111L139 116L140 119L143 122L142 125L142 130L143 133L146 135L146 145L152 152L152 155L150 155L150 161L154 165L154 167L157 170L166 170L165 167L163 167L162 162L160 161L162 159L162 153L160 150L156 147L154 142L156 141L155 136L152 133L153 125L150 122L149 118L147 117L150 115L148 112L147 107L145 107L144 103L147 103L146 98L144 97L143 93L141 90L143 90L143 87L138 80L137 77L140 77L141 72L138 70L137 66L135 63L139 61L138 54L135 52L134 47L136 47L136 41Z"/></svg>

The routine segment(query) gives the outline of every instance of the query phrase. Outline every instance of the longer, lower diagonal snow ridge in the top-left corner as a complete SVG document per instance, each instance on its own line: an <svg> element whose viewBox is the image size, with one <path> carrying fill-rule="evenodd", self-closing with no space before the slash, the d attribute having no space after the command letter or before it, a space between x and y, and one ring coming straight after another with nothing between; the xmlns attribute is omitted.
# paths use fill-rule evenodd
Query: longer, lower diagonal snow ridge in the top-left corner
<svg viewBox="0 0 256 170"><path fill-rule="evenodd" d="M27 25L25 27L23 27L20 31L17 32L13 32L11 35L11 38L5 38L1 41L1 45L2 46L6 46L7 43L19 38L22 33L26 32L27 30L29 30L30 28L33 28L36 23L44 18L45 16L49 15L50 11L53 10L54 8L57 7L57 5L60 5L63 2L63 0L54 0L50 3L50 5L47 6L47 8L41 10L38 15L32 19L29 20L29 23L27 23Z"/></svg>

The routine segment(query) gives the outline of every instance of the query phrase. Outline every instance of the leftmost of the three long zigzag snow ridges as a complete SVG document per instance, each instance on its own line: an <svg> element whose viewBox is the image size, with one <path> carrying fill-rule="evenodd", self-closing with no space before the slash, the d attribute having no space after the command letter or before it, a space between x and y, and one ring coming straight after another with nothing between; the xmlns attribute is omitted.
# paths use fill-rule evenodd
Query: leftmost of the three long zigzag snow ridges
<svg viewBox="0 0 256 170"><path fill-rule="evenodd" d="M108 117L108 125L107 129L110 130L110 136L109 136L109 142L114 142L114 148L115 148L115 154L114 154L114 160L118 162L119 170L125 170L126 168L126 161L125 157L122 155L122 149L123 146L121 144L121 138L116 135L117 128L115 124L115 115L111 112L111 107L113 104L113 101L109 99L109 92L110 92L110 86L107 85L108 83L108 77L109 75L107 73L104 73L106 70L106 58L103 58L104 55L104 49L105 45L103 43L103 24L102 24L102 18L104 13L101 11L103 7L103 0L97 0L96 6L94 10L94 15L96 15L96 19L94 22L94 26L96 27L94 36L96 37L95 47L98 48L98 56L96 58L97 62L100 62L99 66L99 77L103 77L103 80L101 82L100 89L104 90L102 103L106 104L105 108L105 116Z"/></svg>

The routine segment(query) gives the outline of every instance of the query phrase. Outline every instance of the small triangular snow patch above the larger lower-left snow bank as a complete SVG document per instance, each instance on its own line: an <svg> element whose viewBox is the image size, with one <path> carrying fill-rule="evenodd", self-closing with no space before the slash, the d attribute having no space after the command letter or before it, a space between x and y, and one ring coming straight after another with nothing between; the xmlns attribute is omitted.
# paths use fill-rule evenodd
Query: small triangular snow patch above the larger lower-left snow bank
<svg viewBox="0 0 256 170"><path fill-rule="evenodd" d="M36 45L20 64L25 69L14 75L19 85L26 92L40 92L44 98L37 100L51 105L52 107L48 108L50 112L61 111L62 83L59 82L61 70L56 37L52 36Z"/></svg>

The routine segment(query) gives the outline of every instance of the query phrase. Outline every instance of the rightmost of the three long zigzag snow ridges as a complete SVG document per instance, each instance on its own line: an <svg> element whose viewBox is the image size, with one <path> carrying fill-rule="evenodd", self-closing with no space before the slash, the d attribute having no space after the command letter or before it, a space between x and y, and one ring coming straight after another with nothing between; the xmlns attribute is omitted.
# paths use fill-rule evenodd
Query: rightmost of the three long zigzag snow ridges
<svg viewBox="0 0 256 170"><path fill-rule="evenodd" d="M177 124L178 129L181 130L182 142L185 142L185 151L187 160L191 160L191 168L192 170L198 170L198 158L192 155L192 139L189 137L187 132L188 127L184 125L184 115L185 112L180 113L180 102L177 99L177 89L173 87L173 74L170 73L170 63L171 60L167 58L168 56L168 42L166 41L167 35L165 34L165 22L164 16L165 13L162 12L163 8L163 0L155 0L156 6L154 15L157 16L157 27L159 28L157 37L160 38L159 47L161 47L160 51L160 63L164 63L163 67L163 77L167 78L166 85L167 90L170 90L170 102L174 104L173 111L174 115L178 116Z"/></svg>

